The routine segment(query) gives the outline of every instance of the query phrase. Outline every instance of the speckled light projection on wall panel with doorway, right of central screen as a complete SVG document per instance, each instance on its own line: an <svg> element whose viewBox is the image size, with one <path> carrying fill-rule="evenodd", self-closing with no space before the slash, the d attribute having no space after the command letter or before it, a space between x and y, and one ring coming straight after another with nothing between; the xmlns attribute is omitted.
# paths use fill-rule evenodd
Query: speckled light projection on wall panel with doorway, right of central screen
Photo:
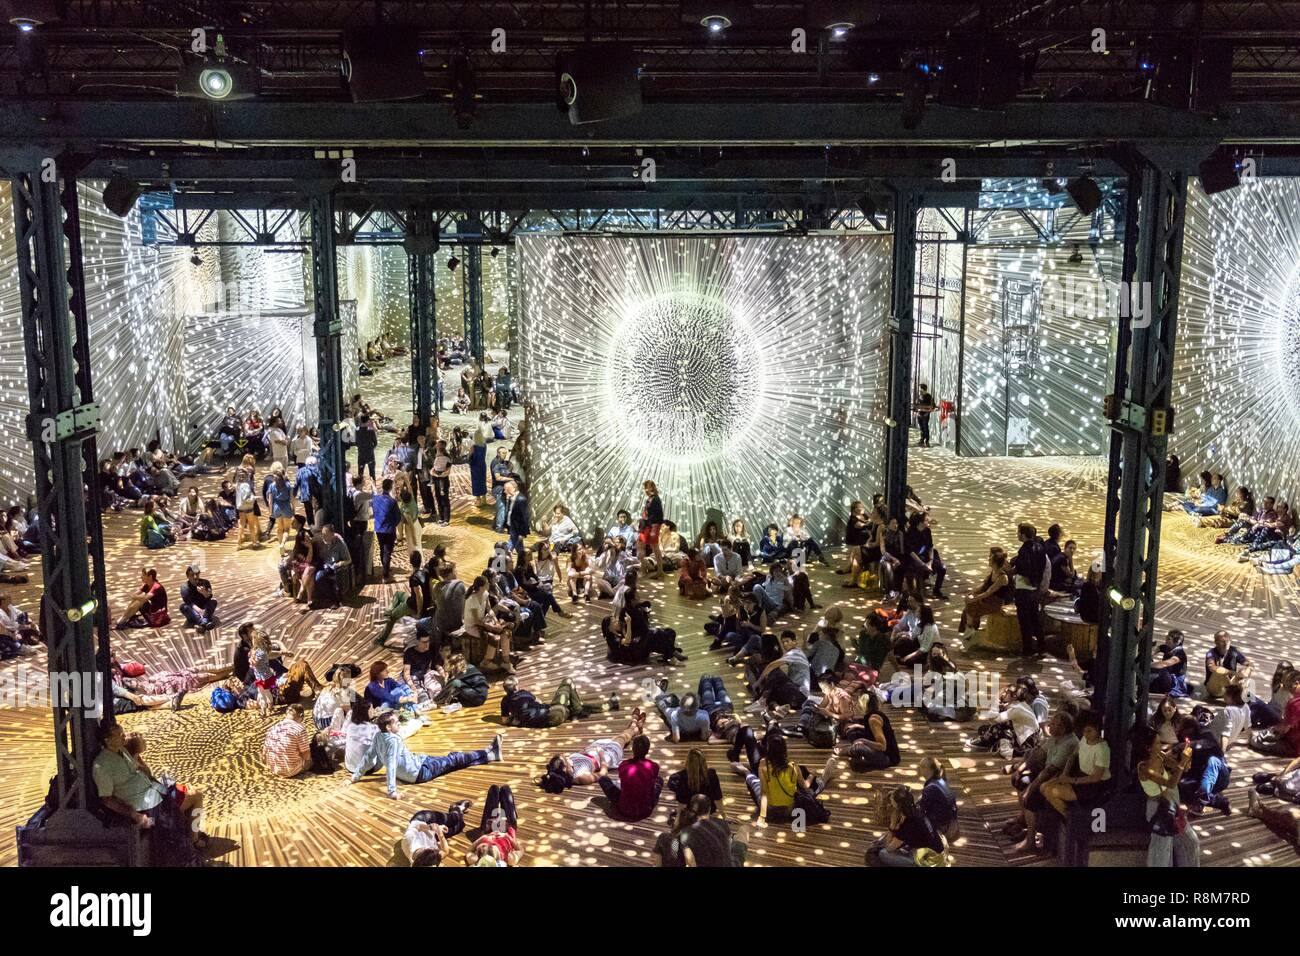
<svg viewBox="0 0 1300 956"><path fill-rule="evenodd" d="M966 265L962 451L1095 455L1105 442L1118 248L972 245Z"/></svg>

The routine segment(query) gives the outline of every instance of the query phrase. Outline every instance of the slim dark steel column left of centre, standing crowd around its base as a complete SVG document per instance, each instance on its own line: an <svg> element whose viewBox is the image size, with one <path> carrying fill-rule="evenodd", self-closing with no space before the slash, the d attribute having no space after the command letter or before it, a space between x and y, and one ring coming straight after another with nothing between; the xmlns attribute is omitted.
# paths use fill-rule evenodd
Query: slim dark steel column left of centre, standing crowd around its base
<svg viewBox="0 0 1300 956"><path fill-rule="evenodd" d="M335 427L343 420L343 323L338 317L338 260L334 247L334 196L311 196L312 295L316 302L316 389L320 393L320 466L328 520L339 533L347 515L347 458Z"/></svg>

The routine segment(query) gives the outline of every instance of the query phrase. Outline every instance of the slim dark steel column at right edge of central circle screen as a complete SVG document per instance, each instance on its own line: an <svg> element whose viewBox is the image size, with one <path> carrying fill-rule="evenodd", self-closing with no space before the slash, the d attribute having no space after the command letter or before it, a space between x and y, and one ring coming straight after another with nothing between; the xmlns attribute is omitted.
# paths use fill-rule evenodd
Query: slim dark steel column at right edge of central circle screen
<svg viewBox="0 0 1300 956"><path fill-rule="evenodd" d="M885 503L902 523L907 488L907 425L911 421L911 351L916 285L916 213L920 195L894 191L893 287L889 312L889 420L885 428Z"/></svg>

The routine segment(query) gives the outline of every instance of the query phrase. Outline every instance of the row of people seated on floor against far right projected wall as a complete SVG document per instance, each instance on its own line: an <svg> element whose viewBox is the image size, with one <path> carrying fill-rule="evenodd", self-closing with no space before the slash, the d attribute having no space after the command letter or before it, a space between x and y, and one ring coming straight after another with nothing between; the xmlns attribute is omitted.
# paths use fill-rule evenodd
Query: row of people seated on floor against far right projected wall
<svg viewBox="0 0 1300 956"><path fill-rule="evenodd" d="M1182 509L1202 528L1216 528L1214 542L1239 549L1238 561L1264 574L1290 575L1300 566L1300 520L1286 499L1256 498L1247 485L1228 496L1221 473L1202 471L1186 494L1166 494L1166 510Z"/></svg>

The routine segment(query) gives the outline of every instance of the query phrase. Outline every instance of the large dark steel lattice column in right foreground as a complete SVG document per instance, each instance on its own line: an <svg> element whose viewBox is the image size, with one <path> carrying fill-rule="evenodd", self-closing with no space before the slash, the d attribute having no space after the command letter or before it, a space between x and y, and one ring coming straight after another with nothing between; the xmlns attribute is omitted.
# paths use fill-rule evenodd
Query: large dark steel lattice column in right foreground
<svg viewBox="0 0 1300 956"><path fill-rule="evenodd" d="M1121 778L1134 722L1147 719L1187 176L1135 155L1128 190L1095 698Z"/></svg>

